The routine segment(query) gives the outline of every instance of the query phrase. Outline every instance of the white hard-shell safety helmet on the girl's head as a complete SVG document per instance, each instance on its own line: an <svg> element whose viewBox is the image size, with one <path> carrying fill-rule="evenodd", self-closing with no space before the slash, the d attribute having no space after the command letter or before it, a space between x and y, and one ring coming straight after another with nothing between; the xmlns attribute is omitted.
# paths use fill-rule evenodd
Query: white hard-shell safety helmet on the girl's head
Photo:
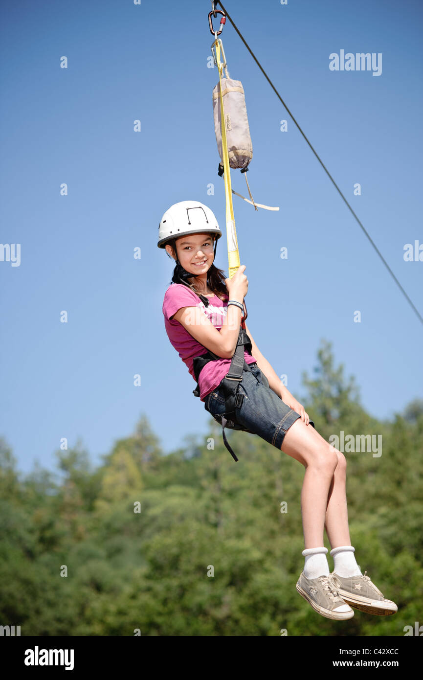
<svg viewBox="0 0 423 680"><path fill-rule="evenodd" d="M157 245L158 248L165 248L166 243L172 239L178 239L186 234L202 232L216 234L216 244L222 236L213 211L199 201L174 203L160 220Z"/></svg>

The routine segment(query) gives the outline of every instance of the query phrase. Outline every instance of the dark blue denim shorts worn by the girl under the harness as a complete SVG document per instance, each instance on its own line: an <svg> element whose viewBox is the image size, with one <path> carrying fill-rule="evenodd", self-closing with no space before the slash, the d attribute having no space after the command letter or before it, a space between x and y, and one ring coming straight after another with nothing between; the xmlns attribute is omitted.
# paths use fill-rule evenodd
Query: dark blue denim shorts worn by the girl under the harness
<svg viewBox="0 0 423 680"><path fill-rule="evenodd" d="M285 433L301 415L287 406L269 387L267 377L256 362L244 369L238 391L243 394L240 407L235 407L237 422L280 449ZM220 386L205 397L205 409L212 415L225 412L224 392Z"/></svg>

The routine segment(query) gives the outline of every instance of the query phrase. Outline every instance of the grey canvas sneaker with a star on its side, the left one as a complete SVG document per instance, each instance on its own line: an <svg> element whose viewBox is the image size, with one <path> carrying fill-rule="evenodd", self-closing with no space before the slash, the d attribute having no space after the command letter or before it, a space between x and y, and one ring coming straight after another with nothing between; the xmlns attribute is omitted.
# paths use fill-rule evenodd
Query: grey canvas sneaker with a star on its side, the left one
<svg viewBox="0 0 423 680"><path fill-rule="evenodd" d="M345 605L339 596L340 585L337 577L332 574L319 576L317 579L307 579L302 571L295 588L311 607L326 619L345 621L345 619L352 619L354 611L349 605Z"/></svg>

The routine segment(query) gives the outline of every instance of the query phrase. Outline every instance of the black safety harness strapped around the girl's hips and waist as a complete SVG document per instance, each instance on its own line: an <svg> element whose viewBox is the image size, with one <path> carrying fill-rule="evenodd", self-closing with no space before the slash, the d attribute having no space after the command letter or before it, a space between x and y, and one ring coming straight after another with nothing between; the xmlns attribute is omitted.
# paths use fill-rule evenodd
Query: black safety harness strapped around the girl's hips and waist
<svg viewBox="0 0 423 680"><path fill-rule="evenodd" d="M237 462L238 458L237 456L235 456L233 450L231 449L228 443L228 440L226 439L224 428L227 427L231 430L242 430L243 432L250 432L251 434L254 434L252 430L248 430L248 428L244 427L243 425L241 425L241 423L237 422L237 414L235 411L236 408L241 407L244 398L244 395L238 391L239 384L242 381L242 373L244 370L251 371L248 363L245 360L244 347L246 348L248 354L252 355L252 345L251 340L247 335L246 329L243 328L242 326L243 322L241 322L241 326L239 328L237 347L231 360L231 367L229 368L229 371L226 374L226 376L222 379L222 381L220 381L219 384L219 388L222 388L224 393L226 407L225 412L222 415L214 415L213 413L211 414L213 415L214 420L216 420L220 425L222 425L222 437L224 445L226 446L226 449L228 449L229 453L231 454L235 462ZM208 364L209 361L216 361L216 359L220 358L222 357L217 356L213 352L210 352L210 350L208 350L205 354L201 354L200 356L194 357L193 368L195 379L197 380L197 387L195 388L195 390L192 390L194 396L200 396L199 375L201 369L203 369L205 367L205 364ZM206 405L204 405L204 408L206 411L208 411Z"/></svg>

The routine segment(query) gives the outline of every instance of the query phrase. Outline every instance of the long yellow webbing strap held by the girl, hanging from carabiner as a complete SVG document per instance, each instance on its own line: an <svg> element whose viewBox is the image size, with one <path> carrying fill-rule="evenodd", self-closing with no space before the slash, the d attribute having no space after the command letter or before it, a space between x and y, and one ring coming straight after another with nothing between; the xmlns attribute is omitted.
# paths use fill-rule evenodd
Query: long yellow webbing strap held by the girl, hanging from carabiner
<svg viewBox="0 0 423 680"><path fill-rule="evenodd" d="M222 128L222 156L223 156L223 171L224 171L224 194L226 198L226 239L228 241L228 260L229 260L229 278L231 279L235 271L239 269L239 252L237 232L235 231L235 217L233 215L232 205L232 186L231 186L231 168L229 166L228 145L226 143L226 124L224 120L223 96L222 96L222 70L223 64L220 61L220 45L216 40L216 61L219 69L219 90L220 90L220 126Z"/></svg>

